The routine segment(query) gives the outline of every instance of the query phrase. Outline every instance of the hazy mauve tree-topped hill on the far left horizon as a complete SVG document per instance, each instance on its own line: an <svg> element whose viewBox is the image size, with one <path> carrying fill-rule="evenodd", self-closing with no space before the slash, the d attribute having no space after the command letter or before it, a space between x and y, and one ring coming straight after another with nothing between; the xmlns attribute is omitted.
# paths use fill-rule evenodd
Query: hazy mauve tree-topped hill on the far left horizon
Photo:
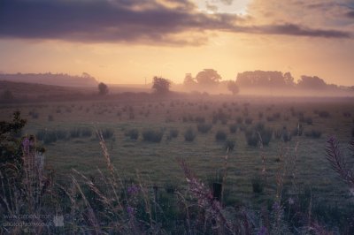
<svg viewBox="0 0 354 235"><path fill-rule="evenodd" d="M71 76L64 73L16 73L0 74L0 80L13 82L38 83L63 87L96 87L98 82L88 73L81 76Z"/></svg>

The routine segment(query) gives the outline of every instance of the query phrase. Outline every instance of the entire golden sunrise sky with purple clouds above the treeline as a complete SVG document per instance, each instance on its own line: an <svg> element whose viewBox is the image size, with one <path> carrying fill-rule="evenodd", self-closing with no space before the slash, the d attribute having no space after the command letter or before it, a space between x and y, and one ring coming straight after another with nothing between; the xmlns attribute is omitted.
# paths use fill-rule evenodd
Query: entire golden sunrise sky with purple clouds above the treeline
<svg viewBox="0 0 354 235"><path fill-rule="evenodd" d="M354 86L354 0L0 0L0 72L107 83L205 68Z"/></svg>

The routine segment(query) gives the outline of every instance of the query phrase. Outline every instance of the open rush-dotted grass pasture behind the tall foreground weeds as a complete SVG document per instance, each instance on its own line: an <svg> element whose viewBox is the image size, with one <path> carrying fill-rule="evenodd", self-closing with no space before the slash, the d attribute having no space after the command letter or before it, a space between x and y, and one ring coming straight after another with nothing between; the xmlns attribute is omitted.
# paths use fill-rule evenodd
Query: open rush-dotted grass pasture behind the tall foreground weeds
<svg viewBox="0 0 354 235"><path fill-rule="evenodd" d="M26 134L64 131L65 136L58 138L61 140L42 143L46 148L45 165L56 172L61 183L72 169L92 178L97 168L105 169L95 130L108 130L112 136L106 138L107 147L123 178L135 178L138 172L148 185L181 185L185 178L176 158L182 157L206 182L223 169L227 155L225 195L229 202L247 204L273 198L279 172L284 178L283 193L294 193L296 184L297 193L311 188L314 196L327 202L350 198L347 186L330 169L325 152L329 136L335 135L343 147L352 138L354 103L350 99L211 96L156 102L33 103L4 106L1 110L4 120L10 120L12 112L19 110L28 121ZM201 123L212 125L210 131L198 132ZM245 137L245 132L258 123L273 132L269 145L263 148L250 146ZM301 136L296 135L299 124L303 127ZM230 132L231 125L236 126L235 133ZM77 128L91 134L76 136ZM193 141L184 138L189 128L196 133ZM126 134L132 129L138 132L137 140ZM162 139L143 140L142 133L147 130L163 133ZM170 137L171 130L178 133L176 138ZM219 131L226 134L226 140L216 140ZM291 140L277 138L277 133L282 132L289 134L287 139L292 133ZM227 140L235 142L228 154ZM265 189L253 193L251 182L262 174L263 158Z"/></svg>

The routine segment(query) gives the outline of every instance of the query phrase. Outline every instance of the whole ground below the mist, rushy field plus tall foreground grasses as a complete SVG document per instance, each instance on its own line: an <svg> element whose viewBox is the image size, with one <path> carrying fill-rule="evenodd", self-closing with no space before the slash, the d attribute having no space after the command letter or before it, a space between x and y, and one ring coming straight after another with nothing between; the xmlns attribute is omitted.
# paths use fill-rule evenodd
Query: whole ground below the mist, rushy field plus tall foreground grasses
<svg viewBox="0 0 354 235"><path fill-rule="evenodd" d="M17 136L22 160L12 178L2 178L1 221L43 224L2 229L351 234L348 151L324 137L353 137L351 108L223 99L8 107L7 119L19 109L28 124L22 134L6 133ZM58 216L63 226L53 224Z"/></svg>

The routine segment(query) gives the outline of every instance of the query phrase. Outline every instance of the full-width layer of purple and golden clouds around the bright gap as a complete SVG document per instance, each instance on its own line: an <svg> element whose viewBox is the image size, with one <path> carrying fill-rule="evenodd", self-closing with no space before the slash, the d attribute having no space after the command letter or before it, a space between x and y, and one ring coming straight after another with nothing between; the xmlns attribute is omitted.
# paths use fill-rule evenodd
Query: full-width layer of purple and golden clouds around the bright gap
<svg viewBox="0 0 354 235"><path fill-rule="evenodd" d="M198 45L207 42L209 31L351 38L354 28L353 1L254 0L246 17L207 14L189 0L176 2L2 0L0 38Z"/></svg>

